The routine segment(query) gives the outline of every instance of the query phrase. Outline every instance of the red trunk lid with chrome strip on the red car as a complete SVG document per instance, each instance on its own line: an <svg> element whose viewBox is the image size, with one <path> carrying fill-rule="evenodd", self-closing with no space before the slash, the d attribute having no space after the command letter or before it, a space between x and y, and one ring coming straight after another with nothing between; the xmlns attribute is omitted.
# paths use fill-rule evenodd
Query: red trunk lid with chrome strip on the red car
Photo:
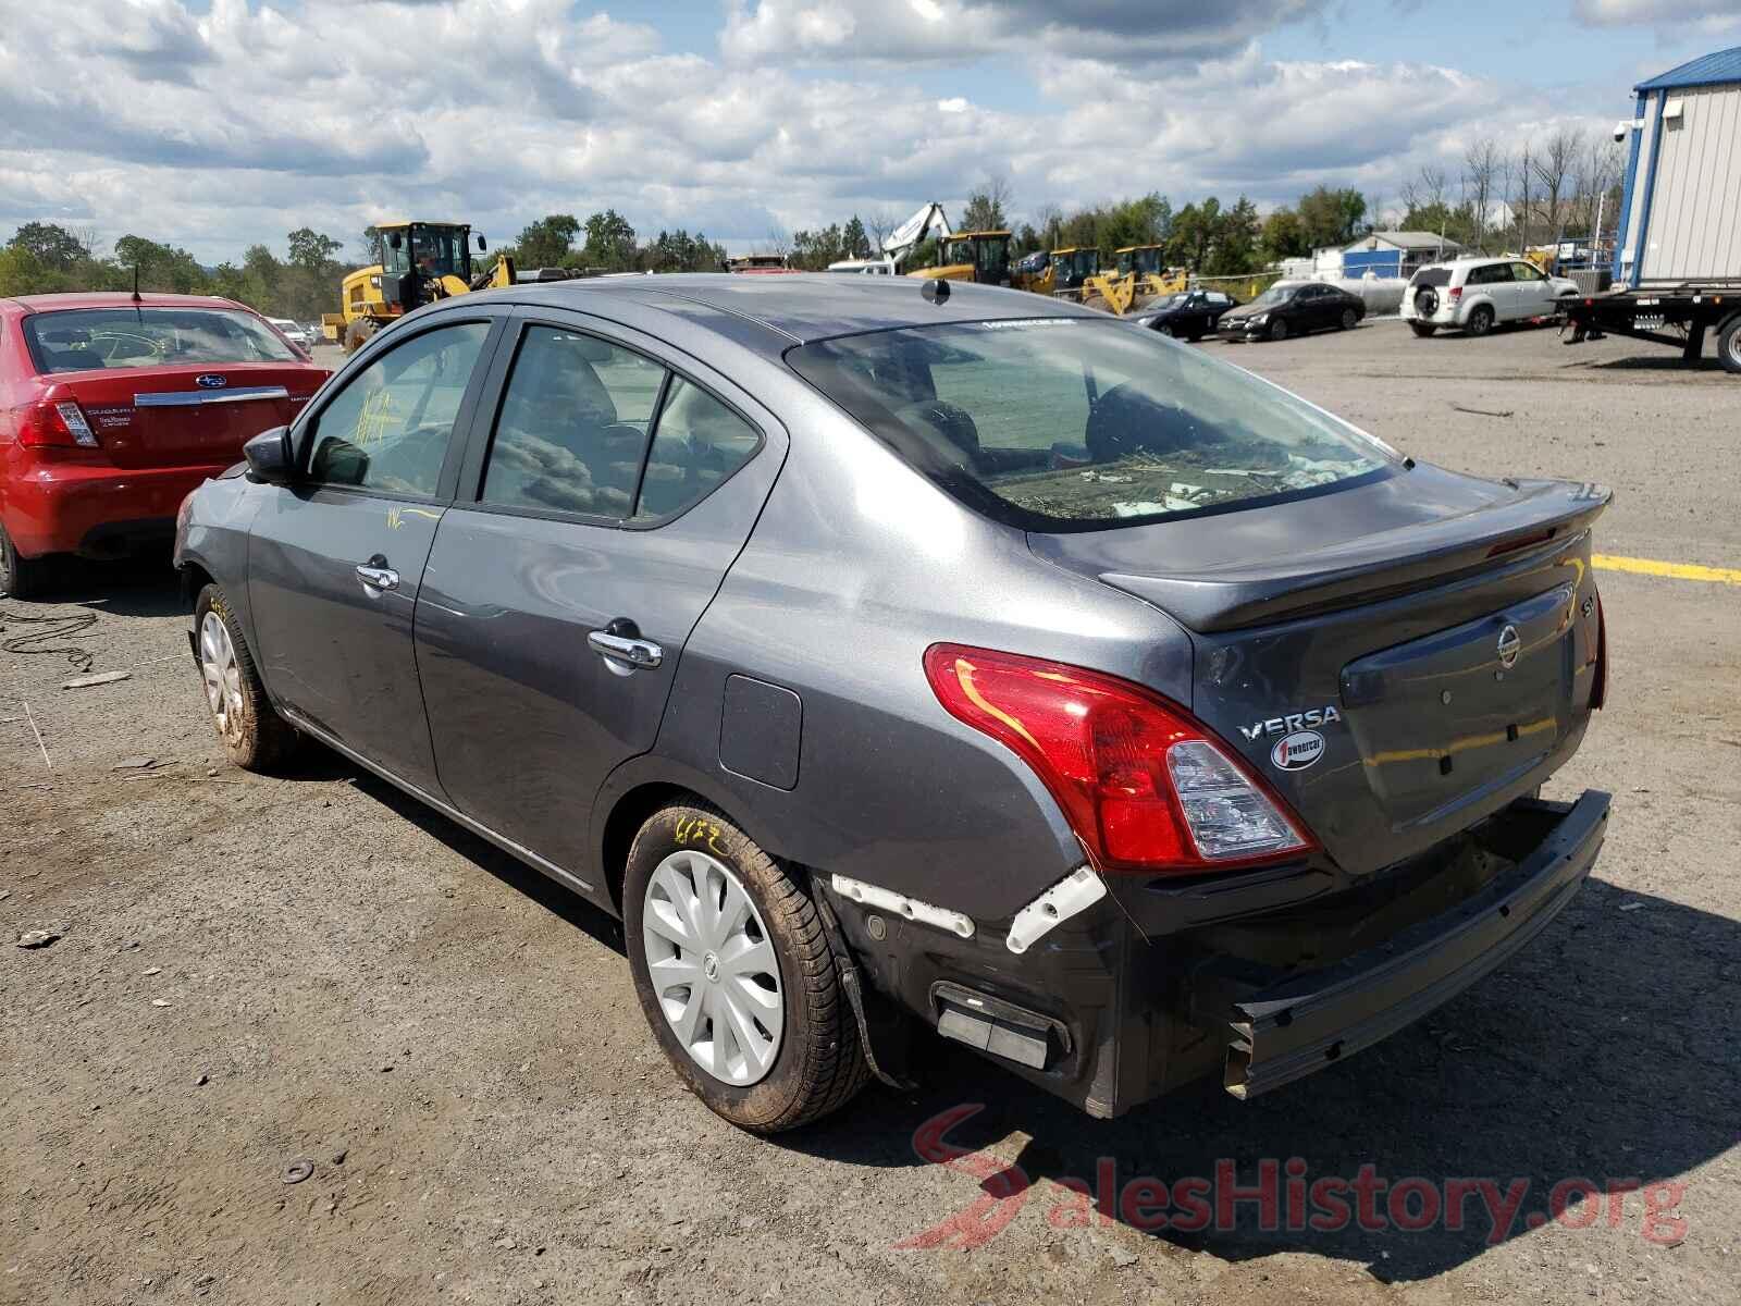
<svg viewBox="0 0 1741 1306"><path fill-rule="evenodd" d="M326 380L306 362L226 362L56 373L49 399L73 399L117 467L218 467L289 423Z"/></svg>

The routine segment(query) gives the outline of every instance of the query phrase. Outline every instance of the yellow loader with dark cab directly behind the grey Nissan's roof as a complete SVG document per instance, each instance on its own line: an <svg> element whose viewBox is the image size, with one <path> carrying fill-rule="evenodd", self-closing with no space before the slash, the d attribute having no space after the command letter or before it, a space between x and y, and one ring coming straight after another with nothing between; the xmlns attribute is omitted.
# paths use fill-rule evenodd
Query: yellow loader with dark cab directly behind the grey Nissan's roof
<svg viewBox="0 0 1741 1306"><path fill-rule="evenodd" d="M348 273L339 287L339 312L320 315L320 334L346 353L376 331L420 305L514 284L514 259L496 258L474 270L472 228L467 223L392 221L376 226L374 263ZM477 249L487 249L475 237Z"/></svg>

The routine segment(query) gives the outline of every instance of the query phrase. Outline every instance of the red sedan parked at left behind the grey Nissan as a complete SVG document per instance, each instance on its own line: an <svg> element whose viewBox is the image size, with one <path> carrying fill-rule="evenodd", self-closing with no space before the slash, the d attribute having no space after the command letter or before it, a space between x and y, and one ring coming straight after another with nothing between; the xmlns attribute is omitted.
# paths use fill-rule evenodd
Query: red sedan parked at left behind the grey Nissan
<svg viewBox="0 0 1741 1306"><path fill-rule="evenodd" d="M56 554L167 543L188 491L326 376L230 300L0 300L0 596L40 587Z"/></svg>

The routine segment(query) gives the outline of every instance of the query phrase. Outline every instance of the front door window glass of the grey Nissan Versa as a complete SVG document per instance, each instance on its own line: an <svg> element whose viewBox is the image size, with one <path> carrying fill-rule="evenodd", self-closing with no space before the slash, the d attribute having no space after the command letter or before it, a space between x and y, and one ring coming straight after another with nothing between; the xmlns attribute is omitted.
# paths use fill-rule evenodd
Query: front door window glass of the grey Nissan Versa
<svg viewBox="0 0 1741 1306"><path fill-rule="evenodd" d="M352 376L315 420L308 474L329 486L430 498L487 322L425 331Z"/></svg>

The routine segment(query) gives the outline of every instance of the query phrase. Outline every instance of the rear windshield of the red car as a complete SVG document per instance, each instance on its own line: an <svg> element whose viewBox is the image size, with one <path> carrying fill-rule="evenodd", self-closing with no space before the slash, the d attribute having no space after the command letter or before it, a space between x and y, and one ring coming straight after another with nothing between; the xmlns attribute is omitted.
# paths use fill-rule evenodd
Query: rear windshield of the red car
<svg viewBox="0 0 1741 1306"><path fill-rule="evenodd" d="M251 313L223 308L64 308L24 319L38 373L207 362L296 362Z"/></svg>

